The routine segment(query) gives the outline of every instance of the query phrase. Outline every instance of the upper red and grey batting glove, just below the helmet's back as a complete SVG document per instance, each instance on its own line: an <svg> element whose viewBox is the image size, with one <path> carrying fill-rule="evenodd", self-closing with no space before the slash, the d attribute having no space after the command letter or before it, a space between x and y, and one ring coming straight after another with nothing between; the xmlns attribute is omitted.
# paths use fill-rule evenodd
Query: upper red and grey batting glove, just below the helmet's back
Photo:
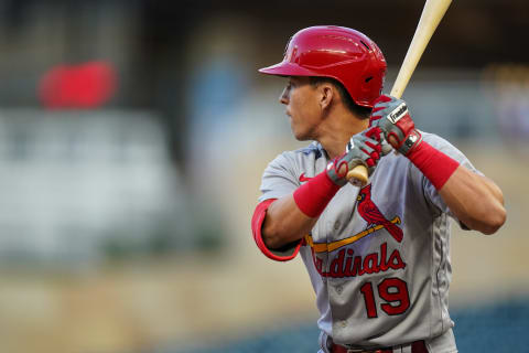
<svg viewBox="0 0 529 353"><path fill-rule="evenodd" d="M386 140L404 156L422 142L406 101L391 96L382 95L375 100L369 127L379 127Z"/></svg>

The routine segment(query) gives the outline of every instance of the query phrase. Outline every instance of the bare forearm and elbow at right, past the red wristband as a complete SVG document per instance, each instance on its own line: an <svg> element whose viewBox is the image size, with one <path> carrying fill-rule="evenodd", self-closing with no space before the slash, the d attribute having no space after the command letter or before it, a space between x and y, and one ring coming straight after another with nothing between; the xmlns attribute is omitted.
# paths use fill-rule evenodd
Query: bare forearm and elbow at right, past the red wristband
<svg viewBox="0 0 529 353"><path fill-rule="evenodd" d="M505 223L507 214L499 188L463 165L439 193L452 213L471 229L493 234Z"/></svg>

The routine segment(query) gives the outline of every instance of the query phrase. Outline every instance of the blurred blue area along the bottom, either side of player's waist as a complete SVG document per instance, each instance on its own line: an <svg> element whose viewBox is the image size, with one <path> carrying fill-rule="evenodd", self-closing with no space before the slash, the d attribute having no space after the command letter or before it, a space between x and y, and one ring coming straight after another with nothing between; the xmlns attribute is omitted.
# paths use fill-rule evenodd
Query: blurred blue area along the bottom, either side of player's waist
<svg viewBox="0 0 529 353"><path fill-rule="evenodd" d="M471 306L455 310L454 334L460 352L525 352L525 332L529 329L529 303L526 298L506 302ZM155 350L155 353L316 353L320 331L314 324L291 327L241 340L217 343L213 347Z"/></svg>

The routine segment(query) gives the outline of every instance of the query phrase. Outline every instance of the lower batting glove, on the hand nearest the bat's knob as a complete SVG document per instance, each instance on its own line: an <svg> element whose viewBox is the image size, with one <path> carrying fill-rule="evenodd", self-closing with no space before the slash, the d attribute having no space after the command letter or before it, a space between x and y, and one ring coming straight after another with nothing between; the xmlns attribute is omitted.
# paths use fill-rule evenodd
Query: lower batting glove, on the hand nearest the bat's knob
<svg viewBox="0 0 529 353"><path fill-rule="evenodd" d="M367 168L371 175L381 156L391 151L379 127L373 127L353 136L347 142L345 153L327 165L328 178L339 186L347 183L347 173L356 165Z"/></svg>

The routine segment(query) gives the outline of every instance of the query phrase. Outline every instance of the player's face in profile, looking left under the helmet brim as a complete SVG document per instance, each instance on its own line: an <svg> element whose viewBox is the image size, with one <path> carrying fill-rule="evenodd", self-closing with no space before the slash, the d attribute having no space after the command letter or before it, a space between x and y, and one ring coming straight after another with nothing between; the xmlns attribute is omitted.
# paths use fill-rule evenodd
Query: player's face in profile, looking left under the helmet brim
<svg viewBox="0 0 529 353"><path fill-rule="evenodd" d="M310 78L289 77L279 101L287 106L294 137L300 141L315 140L322 117L317 89L311 85Z"/></svg>

